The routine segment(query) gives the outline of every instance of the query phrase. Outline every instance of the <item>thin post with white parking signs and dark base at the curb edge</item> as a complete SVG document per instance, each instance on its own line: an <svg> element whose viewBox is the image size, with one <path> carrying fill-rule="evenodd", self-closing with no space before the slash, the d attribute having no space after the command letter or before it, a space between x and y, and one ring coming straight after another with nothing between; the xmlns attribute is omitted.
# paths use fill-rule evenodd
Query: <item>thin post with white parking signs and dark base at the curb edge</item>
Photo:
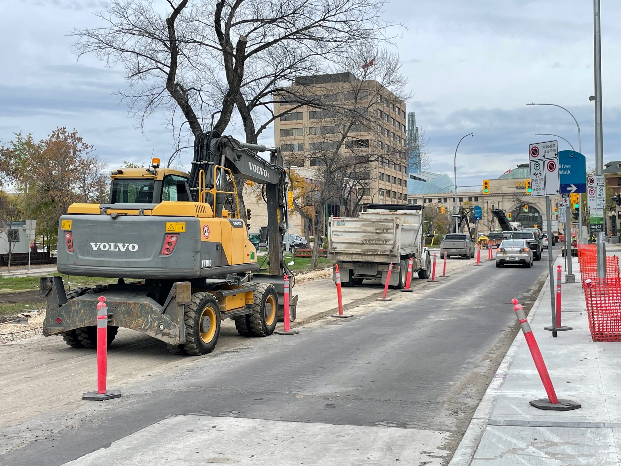
<svg viewBox="0 0 621 466"><path fill-rule="evenodd" d="M556 332L556 302L555 286L553 281L554 272L552 270L552 221L550 213L550 196L561 193L561 182L559 174L558 142L546 141L528 145L528 159L530 160L530 183L533 197L545 196L545 215L548 227L548 268L550 270L550 302L552 309L552 336L557 337ZM537 178L537 191L533 182L533 173Z"/></svg>

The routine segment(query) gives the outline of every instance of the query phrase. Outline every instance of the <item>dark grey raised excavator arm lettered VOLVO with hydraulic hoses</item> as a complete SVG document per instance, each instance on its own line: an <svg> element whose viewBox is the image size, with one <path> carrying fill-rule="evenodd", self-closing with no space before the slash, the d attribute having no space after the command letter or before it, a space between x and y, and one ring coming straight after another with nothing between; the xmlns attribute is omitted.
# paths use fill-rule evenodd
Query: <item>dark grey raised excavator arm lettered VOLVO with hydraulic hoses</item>
<svg viewBox="0 0 621 466"><path fill-rule="evenodd" d="M258 152L269 152L269 162ZM280 150L240 142L215 131L198 134L194 140L194 160L188 181L194 202L209 203L215 207L214 215L222 216L227 196L237 196L233 176L265 185L268 227L264 240L272 245L270 273L283 275L288 272L282 247L288 226L288 183ZM237 216L239 214L237 212ZM265 236L263 229L262 236Z"/></svg>

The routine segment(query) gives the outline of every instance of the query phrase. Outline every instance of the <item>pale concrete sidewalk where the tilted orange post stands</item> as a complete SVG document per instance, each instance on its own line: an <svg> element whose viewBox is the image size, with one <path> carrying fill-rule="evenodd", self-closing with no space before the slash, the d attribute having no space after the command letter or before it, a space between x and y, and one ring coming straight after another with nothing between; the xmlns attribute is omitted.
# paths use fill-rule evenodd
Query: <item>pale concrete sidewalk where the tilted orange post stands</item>
<svg viewBox="0 0 621 466"><path fill-rule="evenodd" d="M619 255L621 251L608 248L607 252ZM576 283L563 283L561 321L573 330L558 332L558 338L553 338L543 329L551 325L549 281L543 285L528 321L556 395L581 403L582 408L543 411L528 404L546 398L546 393L519 332L450 466L621 464L621 343L591 340L578 259L572 264ZM555 269L556 265L563 265L563 258L558 258ZM512 296L504 298L506 303ZM513 312L511 304L504 306Z"/></svg>

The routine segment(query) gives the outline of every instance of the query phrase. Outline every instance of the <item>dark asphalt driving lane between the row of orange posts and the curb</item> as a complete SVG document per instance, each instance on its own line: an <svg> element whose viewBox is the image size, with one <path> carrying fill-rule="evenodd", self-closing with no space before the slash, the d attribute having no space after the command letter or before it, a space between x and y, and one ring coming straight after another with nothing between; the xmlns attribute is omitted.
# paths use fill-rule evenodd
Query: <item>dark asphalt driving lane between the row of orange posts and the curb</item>
<svg viewBox="0 0 621 466"><path fill-rule="evenodd" d="M487 257L486 251L482 256ZM176 373L140 381L119 400L89 405L93 408L86 420L67 419L65 429L6 452L0 463L61 465L124 437L132 438L170 416L197 414L266 423L332 424L343 426L343 439L360 426L438 432L435 449L421 446L419 453L427 454L428 462L401 464L446 464L514 337L517 327L510 300L519 298L529 309L547 273L547 260L535 262L530 269L496 268L494 262L484 261L481 267L465 267L428 286L416 299L386 304L381 310L358 313L356 318L324 319L299 327L297 336L265 339L260 347L196 358L196 363ZM191 426L196 426L195 417L187 417ZM183 428L185 418L176 419L181 419L177 423L181 427L170 428ZM186 437L208 433L193 427L184 432ZM139 444L148 454L161 447L165 437L160 432ZM318 439L314 434L307 439L314 443L315 458L325 446L325 439ZM231 440L234 444L235 438L229 436ZM282 450L272 440L273 451ZM107 454L107 450L102 452ZM109 454L114 453L109 448ZM124 450L117 457L122 460L111 456L101 464L134 464L128 459L131 455ZM155 462L156 456L150 458L153 462L137 460L135 464L166 464L164 457ZM278 455L272 460L273 464L289 464ZM87 458L73 464L99 461Z"/></svg>

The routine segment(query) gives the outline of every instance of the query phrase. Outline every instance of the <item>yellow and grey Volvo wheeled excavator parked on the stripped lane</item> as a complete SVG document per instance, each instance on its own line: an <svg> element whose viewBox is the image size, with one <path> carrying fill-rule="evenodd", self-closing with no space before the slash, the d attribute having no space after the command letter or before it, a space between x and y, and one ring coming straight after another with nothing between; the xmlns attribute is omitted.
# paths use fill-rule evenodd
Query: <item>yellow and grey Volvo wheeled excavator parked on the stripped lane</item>
<svg viewBox="0 0 621 466"><path fill-rule="evenodd" d="M258 155L268 152L269 162ZM258 272L255 247L240 219L233 177L263 183L270 274ZM194 142L190 173L160 168L112 171L106 204L72 204L58 226L58 272L116 279L66 293L60 276L43 277L45 336L72 347L96 345L97 298L106 296L108 343L127 327L176 354L207 354L220 322L243 336L268 336L282 316L287 178L278 148L245 144L211 131ZM111 280L112 281L112 280ZM291 298L295 319L297 296Z"/></svg>

